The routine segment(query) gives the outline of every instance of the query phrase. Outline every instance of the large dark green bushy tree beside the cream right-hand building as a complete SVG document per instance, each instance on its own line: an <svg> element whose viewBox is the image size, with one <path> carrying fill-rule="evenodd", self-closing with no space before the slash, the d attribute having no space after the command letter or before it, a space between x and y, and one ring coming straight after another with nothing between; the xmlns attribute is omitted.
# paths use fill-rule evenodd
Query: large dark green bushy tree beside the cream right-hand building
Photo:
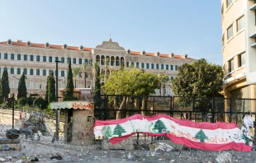
<svg viewBox="0 0 256 163"><path fill-rule="evenodd" d="M224 73L220 65L198 60L191 65L185 63L178 68L178 74L172 81L175 95L216 97L220 96Z"/></svg>

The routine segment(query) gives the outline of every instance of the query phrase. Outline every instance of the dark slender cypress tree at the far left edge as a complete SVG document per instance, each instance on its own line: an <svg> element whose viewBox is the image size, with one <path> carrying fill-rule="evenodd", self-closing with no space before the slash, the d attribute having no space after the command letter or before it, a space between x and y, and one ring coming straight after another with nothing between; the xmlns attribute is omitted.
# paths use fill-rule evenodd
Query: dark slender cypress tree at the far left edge
<svg viewBox="0 0 256 163"><path fill-rule="evenodd" d="M2 98L7 99L9 94L10 94L10 86L9 86L8 72L7 72L7 68L4 68L2 72L0 96Z"/></svg>

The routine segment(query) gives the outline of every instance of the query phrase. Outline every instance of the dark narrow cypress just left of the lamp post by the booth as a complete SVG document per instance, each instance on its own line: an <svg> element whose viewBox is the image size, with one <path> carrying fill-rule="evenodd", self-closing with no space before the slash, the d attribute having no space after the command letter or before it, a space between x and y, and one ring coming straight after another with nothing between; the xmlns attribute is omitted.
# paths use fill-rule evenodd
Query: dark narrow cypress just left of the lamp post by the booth
<svg viewBox="0 0 256 163"><path fill-rule="evenodd" d="M54 71L50 71L50 75L47 77L47 97L48 97L48 103L51 103L56 100L55 95L55 76Z"/></svg>

